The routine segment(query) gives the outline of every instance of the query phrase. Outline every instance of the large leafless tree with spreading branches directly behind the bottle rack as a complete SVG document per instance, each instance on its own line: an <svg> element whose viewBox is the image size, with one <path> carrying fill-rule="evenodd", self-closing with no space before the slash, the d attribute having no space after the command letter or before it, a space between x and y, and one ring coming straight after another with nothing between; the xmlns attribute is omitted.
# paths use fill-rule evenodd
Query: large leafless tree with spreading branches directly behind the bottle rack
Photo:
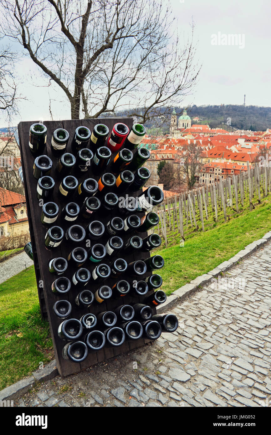
<svg viewBox="0 0 271 435"><path fill-rule="evenodd" d="M2 33L63 90L72 119L81 110L93 118L125 110L159 125L197 79L193 25L186 42L173 37L174 18L162 0L0 0L0 6Z"/></svg>

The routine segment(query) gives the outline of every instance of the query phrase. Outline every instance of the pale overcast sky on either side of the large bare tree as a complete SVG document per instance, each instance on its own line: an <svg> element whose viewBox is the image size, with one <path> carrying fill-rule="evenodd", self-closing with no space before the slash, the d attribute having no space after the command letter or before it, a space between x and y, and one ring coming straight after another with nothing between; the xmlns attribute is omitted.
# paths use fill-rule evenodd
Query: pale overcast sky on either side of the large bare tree
<svg viewBox="0 0 271 435"><path fill-rule="evenodd" d="M197 57L202 64L197 86L188 104L246 104L271 106L270 17L267 0L170 0L178 26L186 35L195 23ZM228 34L239 35L237 45L221 45ZM217 44L217 45L214 45ZM239 48L240 47L240 48ZM33 62L22 57L18 67L19 91L28 101L20 104L20 120L49 120L49 94L54 119L69 119L70 107L56 86L48 88ZM35 86L33 86L35 84ZM38 86L38 87L37 87ZM0 117L0 127L6 121Z"/></svg>

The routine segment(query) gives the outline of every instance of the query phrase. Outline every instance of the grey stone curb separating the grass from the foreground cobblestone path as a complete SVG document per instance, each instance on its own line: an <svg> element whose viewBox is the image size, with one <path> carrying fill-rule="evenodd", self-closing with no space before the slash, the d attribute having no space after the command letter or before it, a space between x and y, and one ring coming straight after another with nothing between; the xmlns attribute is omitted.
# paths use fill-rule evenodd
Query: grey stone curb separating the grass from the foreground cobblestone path
<svg viewBox="0 0 271 435"><path fill-rule="evenodd" d="M234 257L230 258L228 261L223 261L216 268L193 279L190 283L183 285L174 291L170 296L167 297L167 301L164 304L157 307L157 313L164 313L169 308L174 307L177 302L183 301L187 296L193 294L199 287L204 284L208 284L212 279L216 278L222 271L230 269L234 264L238 263L242 259L248 257L252 252L256 251L258 248L271 240L271 231L264 234L264 237L256 240L253 243L248 244L242 251L239 251ZM56 360L49 362L45 365L43 369L34 371L32 376L24 378L21 381L10 385L0 391L0 400L14 400L21 397L27 391L29 391L33 386L39 384L40 382L49 381L58 375Z"/></svg>

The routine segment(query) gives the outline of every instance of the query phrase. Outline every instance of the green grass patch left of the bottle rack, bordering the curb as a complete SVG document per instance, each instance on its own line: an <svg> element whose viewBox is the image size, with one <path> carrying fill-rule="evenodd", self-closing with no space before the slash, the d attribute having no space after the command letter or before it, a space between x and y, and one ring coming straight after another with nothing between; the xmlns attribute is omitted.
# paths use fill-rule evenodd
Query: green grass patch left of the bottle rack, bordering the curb
<svg viewBox="0 0 271 435"><path fill-rule="evenodd" d="M0 389L37 370L52 355L31 266L0 284Z"/></svg>

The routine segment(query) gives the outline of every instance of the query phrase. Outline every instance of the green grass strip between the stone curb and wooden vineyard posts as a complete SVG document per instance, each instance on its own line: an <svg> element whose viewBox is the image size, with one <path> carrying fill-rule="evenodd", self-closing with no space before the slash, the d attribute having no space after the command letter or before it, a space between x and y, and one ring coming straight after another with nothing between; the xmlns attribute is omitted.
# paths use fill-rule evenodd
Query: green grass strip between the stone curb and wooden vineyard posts
<svg viewBox="0 0 271 435"><path fill-rule="evenodd" d="M155 254L162 255L165 261L161 270L163 290L171 294L233 257L247 244L270 230L271 199L268 197L251 212L244 211L239 217L235 216L226 223L217 223L215 228L206 232L194 233L193 237L184 241L183 247L179 244L180 234L171 236L175 240L174 246L155 250Z"/></svg>

